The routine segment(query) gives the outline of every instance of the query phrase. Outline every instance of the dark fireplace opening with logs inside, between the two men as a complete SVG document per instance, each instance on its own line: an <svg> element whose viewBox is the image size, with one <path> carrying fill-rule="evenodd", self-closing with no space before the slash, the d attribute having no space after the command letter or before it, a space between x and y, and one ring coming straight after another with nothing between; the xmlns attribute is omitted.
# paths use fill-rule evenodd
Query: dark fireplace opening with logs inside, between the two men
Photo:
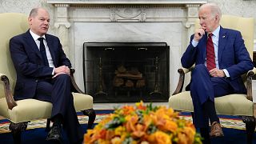
<svg viewBox="0 0 256 144"><path fill-rule="evenodd" d="M94 102L168 102L166 42L85 42L86 94Z"/></svg>

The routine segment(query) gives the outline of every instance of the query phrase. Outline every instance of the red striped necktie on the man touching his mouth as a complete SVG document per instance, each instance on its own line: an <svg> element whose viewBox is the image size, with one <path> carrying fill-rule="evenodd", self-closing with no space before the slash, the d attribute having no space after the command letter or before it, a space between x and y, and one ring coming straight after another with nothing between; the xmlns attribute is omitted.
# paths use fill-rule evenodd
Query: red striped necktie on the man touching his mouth
<svg viewBox="0 0 256 144"><path fill-rule="evenodd" d="M212 70L216 67L215 54L214 54L214 42L211 38L213 34L208 35L206 43L206 67L208 70Z"/></svg>

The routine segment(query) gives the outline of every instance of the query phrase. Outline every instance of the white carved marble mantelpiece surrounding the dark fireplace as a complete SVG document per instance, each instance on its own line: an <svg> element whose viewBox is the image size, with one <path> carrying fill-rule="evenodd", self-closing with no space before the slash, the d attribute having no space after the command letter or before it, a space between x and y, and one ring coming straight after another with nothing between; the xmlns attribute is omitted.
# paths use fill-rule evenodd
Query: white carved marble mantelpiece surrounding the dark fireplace
<svg viewBox="0 0 256 144"><path fill-rule="evenodd" d="M178 82L180 58L194 30L203 0L48 0L54 26L83 89L83 42L167 42L170 94Z"/></svg>

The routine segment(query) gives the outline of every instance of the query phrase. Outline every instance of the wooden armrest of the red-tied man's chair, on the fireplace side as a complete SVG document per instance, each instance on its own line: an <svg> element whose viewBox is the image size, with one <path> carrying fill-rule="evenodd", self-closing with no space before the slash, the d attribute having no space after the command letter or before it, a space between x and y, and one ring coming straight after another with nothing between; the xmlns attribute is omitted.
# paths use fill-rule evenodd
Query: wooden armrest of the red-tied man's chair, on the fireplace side
<svg viewBox="0 0 256 144"><path fill-rule="evenodd" d="M189 73L193 68L194 68L194 66L190 67L189 69L186 69L183 67L178 69L178 74L179 74L178 85L177 85L176 90L174 91L173 95L182 92L182 89L184 86L185 74Z"/></svg>

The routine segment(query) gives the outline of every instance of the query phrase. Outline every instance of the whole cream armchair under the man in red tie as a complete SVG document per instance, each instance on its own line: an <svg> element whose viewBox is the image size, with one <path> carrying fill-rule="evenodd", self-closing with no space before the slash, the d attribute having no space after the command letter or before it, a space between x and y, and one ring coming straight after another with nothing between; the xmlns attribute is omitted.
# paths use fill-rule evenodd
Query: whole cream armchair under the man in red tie
<svg viewBox="0 0 256 144"><path fill-rule="evenodd" d="M230 15L223 15L221 25L225 28L239 30L245 41L250 58L253 58L254 50L254 18L242 18ZM198 20L195 22L195 28L199 26ZM185 76L189 77L190 71L193 69L178 69L179 80L178 86L169 98L169 106L174 110L188 111L193 113L192 98L190 91L182 91ZM247 94L229 94L223 97L215 98L215 108L217 114L238 115L242 117L242 121L246 123L247 143L253 140L255 130L256 105L252 96L252 78L256 74L256 69L248 71L242 75L247 89ZM189 77L190 78L190 77Z"/></svg>

